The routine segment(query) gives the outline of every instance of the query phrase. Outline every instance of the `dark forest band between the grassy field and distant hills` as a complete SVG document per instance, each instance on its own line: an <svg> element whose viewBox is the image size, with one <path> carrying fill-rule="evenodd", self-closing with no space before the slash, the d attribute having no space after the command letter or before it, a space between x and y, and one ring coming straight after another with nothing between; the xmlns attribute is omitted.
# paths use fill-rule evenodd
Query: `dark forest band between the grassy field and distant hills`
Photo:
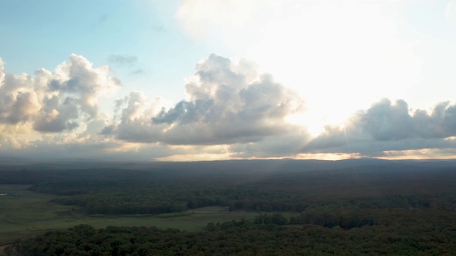
<svg viewBox="0 0 456 256"><path fill-rule="evenodd" d="M30 183L31 190L86 213L158 214L203 206L230 210L301 213L319 205L341 208L455 209L451 170L427 173L381 171L277 171L243 179L212 170L194 176L152 171L0 171L0 183ZM15 174L15 175L14 175ZM218 175L217 175L218 174Z"/></svg>

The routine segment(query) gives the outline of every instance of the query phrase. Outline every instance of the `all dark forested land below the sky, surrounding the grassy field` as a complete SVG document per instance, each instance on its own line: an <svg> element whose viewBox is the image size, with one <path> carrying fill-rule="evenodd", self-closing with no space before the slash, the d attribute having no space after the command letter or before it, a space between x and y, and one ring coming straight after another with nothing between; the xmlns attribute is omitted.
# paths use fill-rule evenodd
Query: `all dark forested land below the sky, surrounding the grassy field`
<svg viewBox="0 0 456 256"><path fill-rule="evenodd" d="M17 239L4 255L454 255L455 181L450 160L6 163L0 184L81 214L219 206L254 217L196 231L81 224Z"/></svg>

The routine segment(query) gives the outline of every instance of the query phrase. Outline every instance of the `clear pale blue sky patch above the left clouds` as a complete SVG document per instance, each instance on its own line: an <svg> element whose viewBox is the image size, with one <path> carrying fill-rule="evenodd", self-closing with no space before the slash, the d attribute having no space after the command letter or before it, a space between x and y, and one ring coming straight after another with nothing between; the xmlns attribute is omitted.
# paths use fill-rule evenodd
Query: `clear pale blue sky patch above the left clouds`
<svg viewBox="0 0 456 256"><path fill-rule="evenodd" d="M95 66L112 65L135 90L155 85L160 87L155 92L172 97L175 92L163 89L182 90L195 62L210 53L180 31L172 1L2 1L2 6L1 30L11 36L1 40L1 58L11 73L53 70L76 53ZM111 55L136 60L125 66L110 63Z"/></svg>

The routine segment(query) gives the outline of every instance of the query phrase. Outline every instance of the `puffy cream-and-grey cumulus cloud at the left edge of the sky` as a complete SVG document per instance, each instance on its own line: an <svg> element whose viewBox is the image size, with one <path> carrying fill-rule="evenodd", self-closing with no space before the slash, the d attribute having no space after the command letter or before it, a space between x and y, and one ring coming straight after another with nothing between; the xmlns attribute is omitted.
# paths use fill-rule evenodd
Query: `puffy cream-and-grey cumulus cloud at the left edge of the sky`
<svg viewBox="0 0 456 256"><path fill-rule="evenodd" d="M98 97L119 85L108 66L93 68L81 55L70 55L54 73L36 70L34 78L6 73L0 63L0 124L69 131L94 119Z"/></svg>

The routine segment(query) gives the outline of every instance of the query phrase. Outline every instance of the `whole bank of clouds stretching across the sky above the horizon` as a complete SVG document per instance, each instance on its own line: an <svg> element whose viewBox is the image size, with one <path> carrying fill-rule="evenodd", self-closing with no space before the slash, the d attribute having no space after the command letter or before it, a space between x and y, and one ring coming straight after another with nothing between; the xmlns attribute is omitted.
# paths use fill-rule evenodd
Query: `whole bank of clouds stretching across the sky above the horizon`
<svg viewBox="0 0 456 256"><path fill-rule="evenodd" d="M125 57L125 56L124 56ZM115 58L129 63L132 59ZM13 75L0 61L0 152L36 158L204 160L307 157L453 157L456 105L410 110L388 99L354 113L343 126L312 137L287 117L306 112L296 92L248 60L211 54L187 78L187 97L130 92L100 110L120 81L108 66L70 55L51 72ZM322 95L321 100L325 97ZM310 125L310 124L309 124Z"/></svg>

